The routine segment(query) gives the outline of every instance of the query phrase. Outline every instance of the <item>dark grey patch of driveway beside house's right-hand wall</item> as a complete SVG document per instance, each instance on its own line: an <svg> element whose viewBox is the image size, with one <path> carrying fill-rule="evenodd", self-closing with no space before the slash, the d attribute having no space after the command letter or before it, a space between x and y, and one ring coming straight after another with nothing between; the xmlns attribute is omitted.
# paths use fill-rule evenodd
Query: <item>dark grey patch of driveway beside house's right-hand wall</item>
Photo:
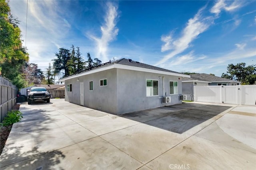
<svg viewBox="0 0 256 170"><path fill-rule="evenodd" d="M229 108L228 106L182 103L126 113L120 116L182 134L213 117L214 120L218 119L215 116Z"/></svg>

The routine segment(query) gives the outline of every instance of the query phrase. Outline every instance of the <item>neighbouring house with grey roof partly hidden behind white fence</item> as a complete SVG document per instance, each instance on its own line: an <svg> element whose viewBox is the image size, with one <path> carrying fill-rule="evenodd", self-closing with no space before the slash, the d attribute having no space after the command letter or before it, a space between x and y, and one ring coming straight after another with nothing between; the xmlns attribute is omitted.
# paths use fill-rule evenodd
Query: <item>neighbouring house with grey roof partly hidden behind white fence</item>
<svg viewBox="0 0 256 170"><path fill-rule="evenodd" d="M239 84L240 82L210 74L190 74L190 78L182 78L182 93L186 95L186 100L194 101L194 86L234 86Z"/></svg>

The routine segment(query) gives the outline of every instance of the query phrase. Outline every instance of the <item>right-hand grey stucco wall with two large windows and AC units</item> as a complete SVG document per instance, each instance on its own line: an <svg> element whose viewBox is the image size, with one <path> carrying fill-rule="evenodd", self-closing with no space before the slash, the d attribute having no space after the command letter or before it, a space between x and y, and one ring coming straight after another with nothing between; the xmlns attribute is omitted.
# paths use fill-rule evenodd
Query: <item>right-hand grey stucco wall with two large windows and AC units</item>
<svg viewBox="0 0 256 170"><path fill-rule="evenodd" d="M162 76L164 94L171 96L170 104L162 104ZM178 95L182 94L182 86L178 76L117 69L117 77L118 114L181 103ZM146 79L158 80L158 96L146 96ZM178 94L170 95L169 81L178 81Z"/></svg>

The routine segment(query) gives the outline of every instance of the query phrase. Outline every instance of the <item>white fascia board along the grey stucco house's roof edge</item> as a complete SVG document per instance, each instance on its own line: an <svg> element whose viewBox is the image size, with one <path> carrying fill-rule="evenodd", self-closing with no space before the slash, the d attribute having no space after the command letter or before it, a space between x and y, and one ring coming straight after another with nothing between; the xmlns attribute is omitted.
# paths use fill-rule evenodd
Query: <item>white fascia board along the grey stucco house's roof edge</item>
<svg viewBox="0 0 256 170"><path fill-rule="evenodd" d="M113 64L110 64L108 66L94 68L94 69L86 71L86 72L81 72L79 74L75 74L75 75L72 75L72 76L61 78L59 81L64 82L65 80L69 80L71 78L77 78L77 77L80 77L80 76L93 74L93 73L96 73L96 72L105 71L105 70L109 70L109 69L112 69L112 68L119 68L119 69L125 69L125 70L134 70L134 71L141 71L141 72L150 72L150 73L156 73L156 74L166 74L166 75L170 75L170 76L180 76L180 77L190 78L190 76L186 75L186 74L179 74L179 73L175 73L175 72L153 70L153 69L149 69L149 68L142 68L142 67L128 66L128 65L124 65L124 64L113 63Z"/></svg>

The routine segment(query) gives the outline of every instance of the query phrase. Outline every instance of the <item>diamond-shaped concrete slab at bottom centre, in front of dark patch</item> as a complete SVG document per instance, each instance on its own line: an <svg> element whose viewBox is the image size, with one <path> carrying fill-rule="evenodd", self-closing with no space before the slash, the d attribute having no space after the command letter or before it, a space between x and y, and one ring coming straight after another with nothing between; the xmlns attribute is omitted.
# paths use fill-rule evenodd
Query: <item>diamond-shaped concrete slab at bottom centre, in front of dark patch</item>
<svg viewBox="0 0 256 170"><path fill-rule="evenodd" d="M179 135L154 126L139 124L101 137L146 164L187 139L189 135Z"/></svg>

